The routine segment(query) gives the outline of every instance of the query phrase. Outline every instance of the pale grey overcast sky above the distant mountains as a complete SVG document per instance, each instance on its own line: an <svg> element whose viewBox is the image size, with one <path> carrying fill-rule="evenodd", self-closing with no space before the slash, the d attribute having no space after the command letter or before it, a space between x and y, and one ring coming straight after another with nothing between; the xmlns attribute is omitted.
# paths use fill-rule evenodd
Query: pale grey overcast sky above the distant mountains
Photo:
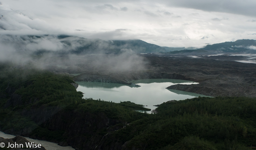
<svg viewBox="0 0 256 150"><path fill-rule="evenodd" d="M141 39L169 47L256 40L255 0L0 1L0 34Z"/></svg>

